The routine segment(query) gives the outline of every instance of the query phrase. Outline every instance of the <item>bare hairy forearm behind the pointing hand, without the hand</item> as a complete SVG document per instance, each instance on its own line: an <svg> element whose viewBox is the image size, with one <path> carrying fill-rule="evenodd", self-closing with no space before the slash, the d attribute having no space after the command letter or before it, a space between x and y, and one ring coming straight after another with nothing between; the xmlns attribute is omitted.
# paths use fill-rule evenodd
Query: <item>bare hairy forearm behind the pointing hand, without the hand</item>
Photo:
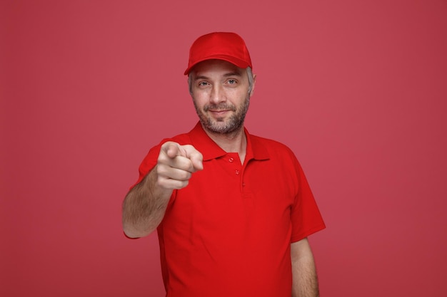
<svg viewBox="0 0 447 297"><path fill-rule="evenodd" d="M156 169L129 191L123 202L123 230L131 237L151 234L164 217L172 190L157 187Z"/></svg>

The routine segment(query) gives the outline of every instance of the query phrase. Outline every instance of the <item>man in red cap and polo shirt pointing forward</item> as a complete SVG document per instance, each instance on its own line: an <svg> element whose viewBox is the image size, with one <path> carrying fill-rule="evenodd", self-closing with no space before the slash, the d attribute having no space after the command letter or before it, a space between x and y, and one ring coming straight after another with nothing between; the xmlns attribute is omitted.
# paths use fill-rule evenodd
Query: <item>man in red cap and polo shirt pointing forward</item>
<svg viewBox="0 0 447 297"><path fill-rule="evenodd" d="M325 226L293 152L243 126L252 68L235 33L194 42L200 121L149 151L124 199L127 236L158 231L166 296L318 296L307 236Z"/></svg>

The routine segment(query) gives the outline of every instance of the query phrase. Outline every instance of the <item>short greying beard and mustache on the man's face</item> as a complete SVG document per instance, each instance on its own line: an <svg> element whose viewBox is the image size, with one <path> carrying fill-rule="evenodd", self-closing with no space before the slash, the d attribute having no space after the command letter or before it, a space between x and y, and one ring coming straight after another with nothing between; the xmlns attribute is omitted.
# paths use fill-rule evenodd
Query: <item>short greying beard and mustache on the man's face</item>
<svg viewBox="0 0 447 297"><path fill-rule="evenodd" d="M236 106L229 103L219 103L219 104L209 104L205 105L203 110L200 110L196 101L194 100L194 107L196 108L196 113L199 115L200 122L205 130L209 132L214 132L217 134L231 134L233 132L238 132L243 127L243 121L245 120L246 113L248 111L248 105L250 105L250 96L247 96L243 104L236 108ZM232 110L233 114L230 118L212 118L207 115L209 110Z"/></svg>

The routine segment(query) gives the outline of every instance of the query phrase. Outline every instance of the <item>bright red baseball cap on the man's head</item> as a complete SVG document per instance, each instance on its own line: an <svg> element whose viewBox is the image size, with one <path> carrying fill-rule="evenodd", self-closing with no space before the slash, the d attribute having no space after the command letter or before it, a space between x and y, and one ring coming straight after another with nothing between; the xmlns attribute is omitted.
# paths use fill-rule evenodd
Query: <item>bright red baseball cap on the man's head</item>
<svg viewBox="0 0 447 297"><path fill-rule="evenodd" d="M189 63L185 75L202 61L224 60L239 68L251 66L250 54L241 36L236 33L214 32L200 36L189 50Z"/></svg>

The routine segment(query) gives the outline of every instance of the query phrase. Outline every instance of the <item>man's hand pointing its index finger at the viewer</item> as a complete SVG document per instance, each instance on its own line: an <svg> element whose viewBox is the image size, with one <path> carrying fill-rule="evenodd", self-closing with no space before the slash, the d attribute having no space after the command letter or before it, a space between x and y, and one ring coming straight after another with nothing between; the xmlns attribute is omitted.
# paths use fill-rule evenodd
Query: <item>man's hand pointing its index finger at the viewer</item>
<svg viewBox="0 0 447 297"><path fill-rule="evenodd" d="M157 183L165 189L182 189L192 174L203 170L204 158L192 145L165 142L161 145L157 161Z"/></svg>

